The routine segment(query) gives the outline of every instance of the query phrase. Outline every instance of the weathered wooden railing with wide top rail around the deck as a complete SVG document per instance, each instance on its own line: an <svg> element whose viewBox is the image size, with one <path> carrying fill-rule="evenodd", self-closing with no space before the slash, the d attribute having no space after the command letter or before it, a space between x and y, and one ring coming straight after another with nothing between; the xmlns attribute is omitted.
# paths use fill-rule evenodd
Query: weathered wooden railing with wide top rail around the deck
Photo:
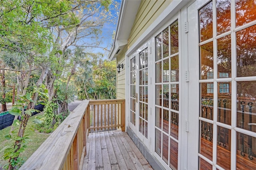
<svg viewBox="0 0 256 170"><path fill-rule="evenodd" d="M20 170L82 169L89 130L112 128L125 130L125 100L83 101L30 156Z"/></svg>

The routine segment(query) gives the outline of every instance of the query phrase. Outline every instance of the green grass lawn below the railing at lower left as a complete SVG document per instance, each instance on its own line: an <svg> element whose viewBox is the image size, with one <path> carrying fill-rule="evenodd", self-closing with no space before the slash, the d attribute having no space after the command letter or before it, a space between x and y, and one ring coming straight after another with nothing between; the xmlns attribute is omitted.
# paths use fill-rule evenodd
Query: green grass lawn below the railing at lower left
<svg viewBox="0 0 256 170"><path fill-rule="evenodd" d="M28 137L31 139L31 141L27 145L28 147L25 148L25 151L22 152L22 154L20 155L21 158L25 161L36 151L36 149L44 142L44 140L46 140L48 136L50 136L50 133L40 133L34 128L35 123L33 122L33 120L35 119L35 116L30 117L30 119L28 120L28 125L25 129L25 135L29 135ZM2 158L4 153L3 148L8 144L14 145L14 143L10 143L10 141L6 140L4 137L10 132L10 128L11 127L7 127L0 130L0 169L2 166L4 166L4 164L8 163L7 160L3 160ZM18 132L18 126L14 128L14 131Z"/></svg>

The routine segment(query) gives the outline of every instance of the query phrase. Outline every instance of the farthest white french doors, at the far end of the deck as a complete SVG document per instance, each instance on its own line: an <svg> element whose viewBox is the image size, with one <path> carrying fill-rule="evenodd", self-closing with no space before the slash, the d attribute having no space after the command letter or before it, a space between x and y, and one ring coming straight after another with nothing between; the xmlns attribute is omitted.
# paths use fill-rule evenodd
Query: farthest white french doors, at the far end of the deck
<svg viewBox="0 0 256 170"><path fill-rule="evenodd" d="M129 126L148 146L148 55L149 42L130 57Z"/></svg>

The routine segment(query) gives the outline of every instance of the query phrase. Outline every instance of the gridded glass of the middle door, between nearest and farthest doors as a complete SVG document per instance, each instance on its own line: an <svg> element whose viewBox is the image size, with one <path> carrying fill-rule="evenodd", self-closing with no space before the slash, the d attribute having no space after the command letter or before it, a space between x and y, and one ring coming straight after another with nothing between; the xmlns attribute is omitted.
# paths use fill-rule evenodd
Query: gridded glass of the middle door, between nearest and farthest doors
<svg viewBox="0 0 256 170"><path fill-rule="evenodd" d="M156 40L155 152L172 169L178 169L179 145L179 39L178 20Z"/></svg>

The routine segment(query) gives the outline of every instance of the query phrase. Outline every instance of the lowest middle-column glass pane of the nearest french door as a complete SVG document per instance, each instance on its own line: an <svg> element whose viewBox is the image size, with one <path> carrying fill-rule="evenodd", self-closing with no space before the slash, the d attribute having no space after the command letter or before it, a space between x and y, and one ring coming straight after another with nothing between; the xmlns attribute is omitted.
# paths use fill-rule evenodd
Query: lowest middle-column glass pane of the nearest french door
<svg viewBox="0 0 256 170"><path fill-rule="evenodd" d="M217 164L224 169L230 169L230 142L231 131L224 127L217 127ZM225 161L223 161L225 159Z"/></svg>

